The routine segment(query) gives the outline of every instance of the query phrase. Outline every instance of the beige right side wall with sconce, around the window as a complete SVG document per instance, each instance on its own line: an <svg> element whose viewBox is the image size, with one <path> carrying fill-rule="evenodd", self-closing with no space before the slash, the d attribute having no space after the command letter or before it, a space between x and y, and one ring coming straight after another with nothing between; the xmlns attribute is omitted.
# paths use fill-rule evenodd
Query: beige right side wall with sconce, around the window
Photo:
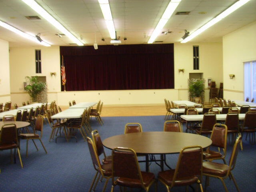
<svg viewBox="0 0 256 192"><path fill-rule="evenodd" d="M243 63L252 60L256 60L256 22L223 37L224 98L244 100Z"/></svg>

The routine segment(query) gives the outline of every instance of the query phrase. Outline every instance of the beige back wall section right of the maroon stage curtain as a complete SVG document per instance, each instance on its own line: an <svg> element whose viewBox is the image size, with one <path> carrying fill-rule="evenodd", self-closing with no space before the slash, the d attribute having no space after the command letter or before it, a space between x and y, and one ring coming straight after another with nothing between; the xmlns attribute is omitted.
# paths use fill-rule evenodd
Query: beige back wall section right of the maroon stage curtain
<svg viewBox="0 0 256 192"><path fill-rule="evenodd" d="M199 70L193 70L193 46L199 46ZM174 44L174 73L175 88L179 89L179 100L188 99L188 78L190 73L202 73L205 78L205 101L209 101L207 79L216 81L216 87L220 87L223 81L222 71L222 43L176 43ZM178 69L185 69L184 73ZM186 90L184 90L186 89Z"/></svg>

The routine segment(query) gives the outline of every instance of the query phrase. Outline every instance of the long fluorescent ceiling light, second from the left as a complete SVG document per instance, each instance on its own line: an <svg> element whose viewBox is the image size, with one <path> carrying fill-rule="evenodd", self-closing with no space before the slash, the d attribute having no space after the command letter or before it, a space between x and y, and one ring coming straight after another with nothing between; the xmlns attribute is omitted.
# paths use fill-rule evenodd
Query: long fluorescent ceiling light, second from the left
<svg viewBox="0 0 256 192"><path fill-rule="evenodd" d="M30 6L34 11L36 11L38 14L40 14L44 19L46 19L50 24L52 24L54 27L56 27L60 32L64 33L68 38L72 40L72 42L75 42L79 46L84 45L84 41L79 40L76 38L72 33L70 33L62 24L60 24L56 19L54 19L46 10L44 10L37 2L34 0L22 0L24 3L26 3L28 6Z"/></svg>

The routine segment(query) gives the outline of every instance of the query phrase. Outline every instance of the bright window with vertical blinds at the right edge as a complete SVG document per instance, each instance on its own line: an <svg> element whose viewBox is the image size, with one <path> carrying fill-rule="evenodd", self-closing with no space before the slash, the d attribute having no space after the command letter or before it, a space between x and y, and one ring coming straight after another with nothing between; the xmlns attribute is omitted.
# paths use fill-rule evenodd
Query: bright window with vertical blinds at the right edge
<svg viewBox="0 0 256 192"><path fill-rule="evenodd" d="M244 63L244 100L256 99L256 61Z"/></svg>

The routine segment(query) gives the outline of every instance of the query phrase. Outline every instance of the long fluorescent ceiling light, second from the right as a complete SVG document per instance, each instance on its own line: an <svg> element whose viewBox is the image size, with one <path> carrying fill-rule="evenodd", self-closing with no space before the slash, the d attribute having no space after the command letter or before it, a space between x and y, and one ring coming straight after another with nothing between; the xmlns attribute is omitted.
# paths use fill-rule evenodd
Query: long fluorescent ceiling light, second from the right
<svg viewBox="0 0 256 192"><path fill-rule="evenodd" d="M171 0L168 6L166 7L164 13L162 14L161 19L159 20L156 28L152 32L148 43L153 43L157 36L160 34L161 30L164 28L165 24L168 22L173 12L176 10L181 0Z"/></svg>

